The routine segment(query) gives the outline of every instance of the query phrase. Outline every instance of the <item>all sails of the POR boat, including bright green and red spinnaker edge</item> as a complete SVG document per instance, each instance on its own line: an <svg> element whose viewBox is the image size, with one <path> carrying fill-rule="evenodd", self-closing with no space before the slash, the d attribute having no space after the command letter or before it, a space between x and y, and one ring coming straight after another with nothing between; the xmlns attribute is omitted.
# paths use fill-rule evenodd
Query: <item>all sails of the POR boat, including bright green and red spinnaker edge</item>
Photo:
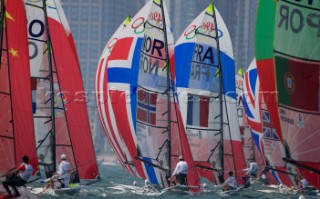
<svg viewBox="0 0 320 199"><path fill-rule="evenodd" d="M319 6L318 1L260 1L256 28L258 72L270 74L260 76L261 88L285 147L284 160L318 189L320 57L313 24Z"/></svg>

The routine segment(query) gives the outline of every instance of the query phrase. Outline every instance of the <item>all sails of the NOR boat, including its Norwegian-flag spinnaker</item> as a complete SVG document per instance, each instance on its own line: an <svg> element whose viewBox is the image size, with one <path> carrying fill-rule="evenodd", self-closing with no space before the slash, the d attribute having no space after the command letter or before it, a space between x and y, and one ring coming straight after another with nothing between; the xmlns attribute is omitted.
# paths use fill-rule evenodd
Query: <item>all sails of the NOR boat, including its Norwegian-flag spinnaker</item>
<svg viewBox="0 0 320 199"><path fill-rule="evenodd" d="M114 134L114 143L127 148L130 162L125 164L134 165L139 177L151 184L169 187L172 168L183 155L189 165L189 186L198 187L172 94L173 37L163 2L149 1L115 38L107 60L100 61L106 64L100 76L106 76L103 91L107 92L103 94L107 105L100 111L105 112L101 121L109 126L107 134Z"/></svg>

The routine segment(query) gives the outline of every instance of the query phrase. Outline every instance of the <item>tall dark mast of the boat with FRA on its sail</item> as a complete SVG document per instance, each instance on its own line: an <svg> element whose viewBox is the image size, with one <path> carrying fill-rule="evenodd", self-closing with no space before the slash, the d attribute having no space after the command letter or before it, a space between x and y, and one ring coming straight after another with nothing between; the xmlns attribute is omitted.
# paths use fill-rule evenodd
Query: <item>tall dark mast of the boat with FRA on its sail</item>
<svg viewBox="0 0 320 199"><path fill-rule="evenodd" d="M224 181L224 150L223 150L223 105L222 105L222 92L223 92L223 89L222 89L222 84L223 84L223 81L222 81L222 67L221 67L221 59L220 59L220 45L219 45L219 33L218 33L218 24L217 24L217 19L216 19L216 13L215 13L215 6L214 6L214 3L212 2L212 5L213 5L213 20L214 20L214 28L215 28L215 34L216 34L216 37L215 37L215 40L217 42L217 53L218 53L218 68L219 68L219 92L220 92L220 95L219 95L219 101L220 101L220 111L221 111L221 115L220 115L220 135L221 135L221 142L220 142L220 150L221 150L221 170L220 170L220 173L219 173L219 180L220 182L222 183Z"/></svg>

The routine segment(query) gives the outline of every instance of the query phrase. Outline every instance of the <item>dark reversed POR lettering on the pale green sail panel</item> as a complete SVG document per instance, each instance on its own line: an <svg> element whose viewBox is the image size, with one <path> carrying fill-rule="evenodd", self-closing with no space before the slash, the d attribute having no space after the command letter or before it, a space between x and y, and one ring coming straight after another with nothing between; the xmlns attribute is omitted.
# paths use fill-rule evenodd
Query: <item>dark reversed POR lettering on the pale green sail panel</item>
<svg viewBox="0 0 320 199"><path fill-rule="evenodd" d="M281 5L279 8L279 16L279 28L284 27L285 30L290 28L294 33L300 33L307 25L307 27L317 29L317 37L320 37L319 13L306 14L306 12L303 12L298 8L292 9L288 5Z"/></svg>

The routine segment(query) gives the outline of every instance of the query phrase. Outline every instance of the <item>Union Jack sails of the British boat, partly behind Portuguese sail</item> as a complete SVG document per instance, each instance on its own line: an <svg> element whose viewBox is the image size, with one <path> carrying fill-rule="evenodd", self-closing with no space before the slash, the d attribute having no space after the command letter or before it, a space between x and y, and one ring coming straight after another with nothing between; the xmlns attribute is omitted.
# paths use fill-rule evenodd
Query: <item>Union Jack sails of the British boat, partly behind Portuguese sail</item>
<svg viewBox="0 0 320 199"><path fill-rule="evenodd" d="M263 157L263 167L270 171L267 172L269 183L291 187L295 183L290 176L293 176L296 171L294 167L290 167L282 160L281 154L284 152L284 147L263 100L259 76L256 60L253 59L245 73L242 96L252 139L260 156Z"/></svg>

